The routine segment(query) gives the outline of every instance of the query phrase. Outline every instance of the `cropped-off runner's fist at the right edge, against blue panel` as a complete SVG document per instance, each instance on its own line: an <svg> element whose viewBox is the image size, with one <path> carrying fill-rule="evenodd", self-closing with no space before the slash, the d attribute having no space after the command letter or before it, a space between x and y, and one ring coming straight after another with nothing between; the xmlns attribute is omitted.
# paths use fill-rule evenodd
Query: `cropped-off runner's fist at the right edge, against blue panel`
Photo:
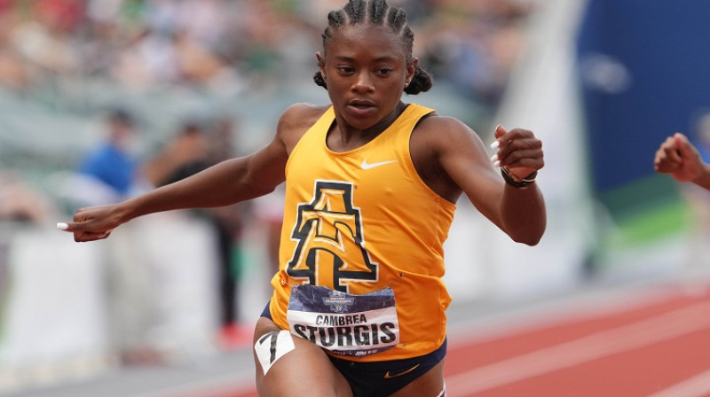
<svg viewBox="0 0 710 397"><path fill-rule="evenodd" d="M653 168L661 174L673 176L678 182L690 182L702 175L703 160L690 140L676 132L660 144Z"/></svg>

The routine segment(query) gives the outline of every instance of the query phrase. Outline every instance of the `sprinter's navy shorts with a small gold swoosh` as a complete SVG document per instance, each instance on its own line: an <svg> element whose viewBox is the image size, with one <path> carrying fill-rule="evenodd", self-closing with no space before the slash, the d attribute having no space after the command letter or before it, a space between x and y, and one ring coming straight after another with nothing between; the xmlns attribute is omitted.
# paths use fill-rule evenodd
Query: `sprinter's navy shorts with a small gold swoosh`
<svg viewBox="0 0 710 397"><path fill-rule="evenodd" d="M268 304L261 315L273 320ZM330 362L347 379L354 397L385 397L395 393L434 368L445 356L446 339L430 354L388 362L353 362L328 354Z"/></svg>

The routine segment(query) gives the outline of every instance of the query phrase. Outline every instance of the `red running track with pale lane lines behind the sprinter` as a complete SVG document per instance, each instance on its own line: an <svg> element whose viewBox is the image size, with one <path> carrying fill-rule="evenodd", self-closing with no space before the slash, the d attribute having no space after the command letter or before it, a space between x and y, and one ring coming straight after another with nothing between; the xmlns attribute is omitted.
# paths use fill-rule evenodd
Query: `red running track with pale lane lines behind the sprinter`
<svg viewBox="0 0 710 397"><path fill-rule="evenodd" d="M643 299L566 312L505 331L450 336L447 395L710 396L710 293L665 287ZM256 397L256 391L207 397Z"/></svg>

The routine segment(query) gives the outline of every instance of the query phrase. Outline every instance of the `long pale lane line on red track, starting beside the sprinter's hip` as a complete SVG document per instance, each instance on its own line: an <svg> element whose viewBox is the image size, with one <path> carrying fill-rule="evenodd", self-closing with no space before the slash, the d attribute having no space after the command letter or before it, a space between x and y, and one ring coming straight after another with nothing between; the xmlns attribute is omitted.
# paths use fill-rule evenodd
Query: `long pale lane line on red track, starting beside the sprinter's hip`
<svg viewBox="0 0 710 397"><path fill-rule="evenodd" d="M611 354L619 354L710 328L710 303L700 303L638 323L519 355L446 378L452 395L476 393Z"/></svg>

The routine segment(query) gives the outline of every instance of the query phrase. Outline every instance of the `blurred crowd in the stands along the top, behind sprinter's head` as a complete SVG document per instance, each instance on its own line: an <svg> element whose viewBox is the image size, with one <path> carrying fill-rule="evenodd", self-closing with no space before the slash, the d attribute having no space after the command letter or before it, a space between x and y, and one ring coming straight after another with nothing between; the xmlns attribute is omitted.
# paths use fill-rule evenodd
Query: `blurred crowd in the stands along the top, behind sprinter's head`
<svg viewBox="0 0 710 397"><path fill-rule="evenodd" d="M0 0L0 83L107 79L136 89L235 92L315 69L327 11L342 0ZM487 104L501 96L533 0L392 0L415 53Z"/></svg>

